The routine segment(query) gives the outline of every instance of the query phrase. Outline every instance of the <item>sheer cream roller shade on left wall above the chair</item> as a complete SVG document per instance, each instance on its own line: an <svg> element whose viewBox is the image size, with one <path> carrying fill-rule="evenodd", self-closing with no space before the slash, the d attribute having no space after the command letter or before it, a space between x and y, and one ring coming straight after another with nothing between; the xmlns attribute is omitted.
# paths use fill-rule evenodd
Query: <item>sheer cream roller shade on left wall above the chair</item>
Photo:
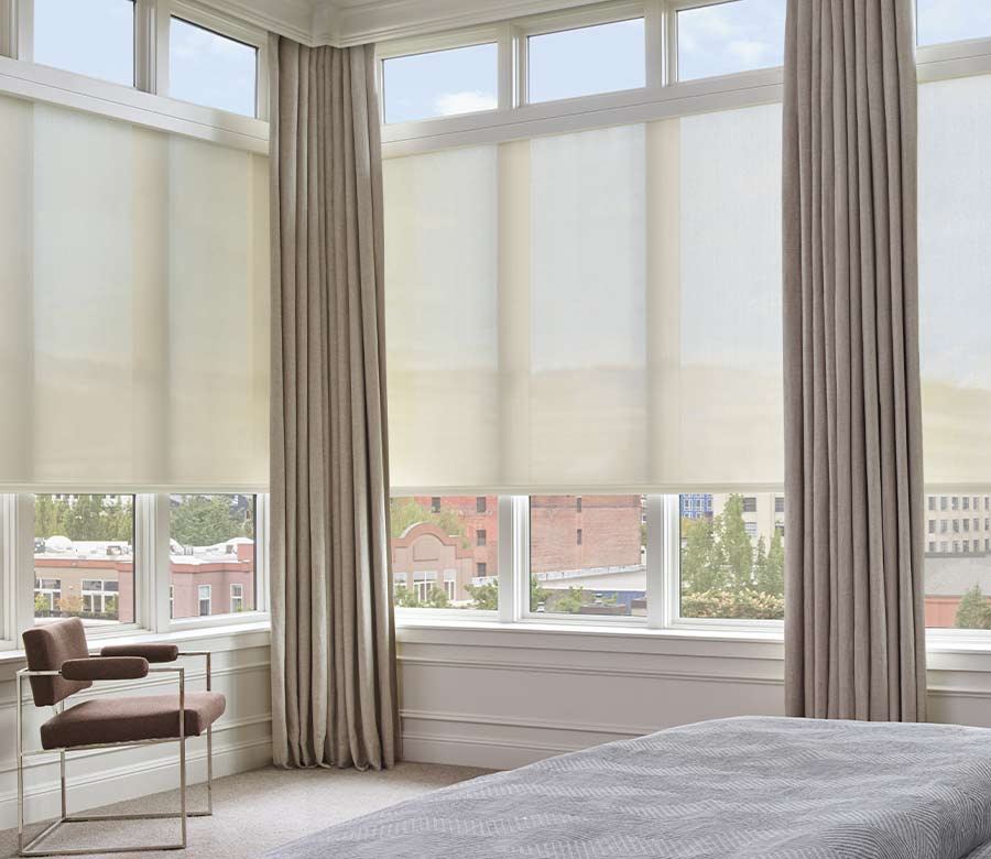
<svg viewBox="0 0 991 859"><path fill-rule="evenodd" d="M266 160L0 97L0 491L268 483Z"/></svg>

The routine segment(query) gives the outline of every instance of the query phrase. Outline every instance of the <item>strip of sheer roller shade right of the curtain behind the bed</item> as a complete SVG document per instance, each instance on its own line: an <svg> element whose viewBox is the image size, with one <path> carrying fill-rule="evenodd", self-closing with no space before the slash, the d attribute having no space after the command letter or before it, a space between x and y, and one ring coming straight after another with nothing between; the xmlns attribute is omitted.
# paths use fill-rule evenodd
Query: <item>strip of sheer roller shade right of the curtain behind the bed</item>
<svg viewBox="0 0 991 859"><path fill-rule="evenodd" d="M918 88L926 483L991 486L991 76Z"/></svg>

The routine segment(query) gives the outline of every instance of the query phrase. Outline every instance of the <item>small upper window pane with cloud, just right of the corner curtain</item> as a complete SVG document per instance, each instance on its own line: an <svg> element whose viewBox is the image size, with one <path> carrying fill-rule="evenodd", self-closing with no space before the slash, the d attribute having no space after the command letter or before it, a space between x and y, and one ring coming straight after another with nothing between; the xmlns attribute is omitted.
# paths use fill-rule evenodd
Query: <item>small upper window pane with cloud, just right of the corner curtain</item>
<svg viewBox="0 0 991 859"><path fill-rule="evenodd" d="M382 62L386 122L493 110L498 99L494 43L390 57Z"/></svg>

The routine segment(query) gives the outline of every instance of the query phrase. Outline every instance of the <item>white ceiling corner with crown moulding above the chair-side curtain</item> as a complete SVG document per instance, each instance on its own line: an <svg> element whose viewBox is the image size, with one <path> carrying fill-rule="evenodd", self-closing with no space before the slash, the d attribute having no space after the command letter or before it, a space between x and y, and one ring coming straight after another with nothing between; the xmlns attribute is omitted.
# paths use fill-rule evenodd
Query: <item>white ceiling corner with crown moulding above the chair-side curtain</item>
<svg viewBox="0 0 991 859"><path fill-rule="evenodd" d="M357 45L536 12L593 0L203 0L218 11L305 44Z"/></svg>

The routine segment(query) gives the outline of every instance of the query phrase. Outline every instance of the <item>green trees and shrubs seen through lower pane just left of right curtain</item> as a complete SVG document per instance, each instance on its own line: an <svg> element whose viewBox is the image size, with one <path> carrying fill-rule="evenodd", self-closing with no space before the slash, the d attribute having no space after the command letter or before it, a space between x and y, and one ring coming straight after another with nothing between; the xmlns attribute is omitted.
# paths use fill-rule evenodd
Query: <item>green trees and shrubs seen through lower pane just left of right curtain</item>
<svg viewBox="0 0 991 859"><path fill-rule="evenodd" d="M770 519L745 522L744 500L714 494L711 519L682 520L680 617L784 618L784 537Z"/></svg>

